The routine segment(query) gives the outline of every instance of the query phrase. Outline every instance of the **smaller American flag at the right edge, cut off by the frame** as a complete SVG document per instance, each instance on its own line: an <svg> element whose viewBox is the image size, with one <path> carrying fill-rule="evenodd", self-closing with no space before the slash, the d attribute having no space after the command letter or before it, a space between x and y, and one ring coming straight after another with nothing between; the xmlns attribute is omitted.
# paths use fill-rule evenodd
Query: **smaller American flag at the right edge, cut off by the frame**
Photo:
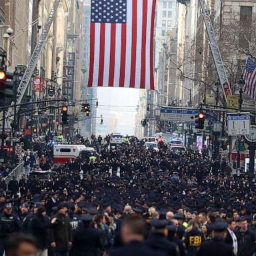
<svg viewBox="0 0 256 256"><path fill-rule="evenodd" d="M243 80L245 81L243 92L256 99L256 63L251 57L247 57Z"/></svg>

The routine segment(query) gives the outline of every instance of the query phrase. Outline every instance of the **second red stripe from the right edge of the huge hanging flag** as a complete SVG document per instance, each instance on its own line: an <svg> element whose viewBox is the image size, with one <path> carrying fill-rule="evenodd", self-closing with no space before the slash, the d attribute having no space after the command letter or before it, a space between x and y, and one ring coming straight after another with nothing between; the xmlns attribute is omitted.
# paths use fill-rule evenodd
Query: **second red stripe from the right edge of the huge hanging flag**
<svg viewBox="0 0 256 256"><path fill-rule="evenodd" d="M147 0L143 0L142 39L141 39L141 89L145 89L147 41Z"/></svg>

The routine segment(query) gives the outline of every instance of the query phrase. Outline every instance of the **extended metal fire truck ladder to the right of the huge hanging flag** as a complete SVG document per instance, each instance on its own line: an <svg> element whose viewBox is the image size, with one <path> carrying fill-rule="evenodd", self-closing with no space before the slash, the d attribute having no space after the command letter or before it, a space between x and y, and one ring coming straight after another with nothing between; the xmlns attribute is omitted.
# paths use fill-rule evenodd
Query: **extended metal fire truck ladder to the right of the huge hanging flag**
<svg viewBox="0 0 256 256"><path fill-rule="evenodd" d="M203 11L203 21L205 22L205 27L206 27L207 34L210 41L211 54L213 55L213 61L217 69L221 87L223 89L223 95L224 95L225 101L227 102L227 96L232 95L232 92L230 89L229 80L227 79L224 64L221 58L221 53L219 51L219 46L215 36L215 31L213 29L213 23L211 22L211 15L209 13L209 9L207 7L207 4L205 3L205 0L199 0L199 3Z"/></svg>

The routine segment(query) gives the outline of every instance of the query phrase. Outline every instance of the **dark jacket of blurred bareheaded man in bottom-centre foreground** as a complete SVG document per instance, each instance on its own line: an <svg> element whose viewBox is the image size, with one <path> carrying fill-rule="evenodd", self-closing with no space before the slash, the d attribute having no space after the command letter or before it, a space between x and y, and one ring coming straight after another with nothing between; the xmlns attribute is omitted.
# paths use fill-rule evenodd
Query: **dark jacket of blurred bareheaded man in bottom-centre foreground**
<svg viewBox="0 0 256 256"><path fill-rule="evenodd" d="M109 256L166 256L165 253L153 251L145 243L132 241L129 245L111 249L108 251Z"/></svg>

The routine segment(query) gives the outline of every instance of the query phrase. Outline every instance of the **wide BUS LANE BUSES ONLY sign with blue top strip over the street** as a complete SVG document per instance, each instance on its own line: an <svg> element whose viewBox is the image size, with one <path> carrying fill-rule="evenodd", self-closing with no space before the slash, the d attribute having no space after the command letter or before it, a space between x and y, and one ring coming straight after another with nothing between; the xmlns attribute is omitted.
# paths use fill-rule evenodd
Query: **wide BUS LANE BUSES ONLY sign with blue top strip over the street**
<svg viewBox="0 0 256 256"><path fill-rule="evenodd" d="M198 110L185 110L185 109L161 109L161 121L181 121L193 123L195 115L199 113Z"/></svg>

